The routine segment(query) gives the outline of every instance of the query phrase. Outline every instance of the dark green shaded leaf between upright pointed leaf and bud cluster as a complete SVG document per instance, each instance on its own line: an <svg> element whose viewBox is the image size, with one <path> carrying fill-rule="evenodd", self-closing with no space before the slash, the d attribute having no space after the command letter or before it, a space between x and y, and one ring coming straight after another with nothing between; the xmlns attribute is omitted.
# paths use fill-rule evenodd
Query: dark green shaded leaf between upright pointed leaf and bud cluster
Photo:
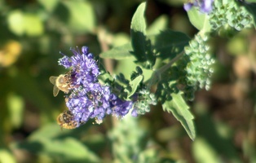
<svg viewBox="0 0 256 163"><path fill-rule="evenodd" d="M159 53L159 57L162 59L173 59L183 51L184 46L188 46L190 38L184 33L166 29L158 35L151 37L151 40L154 49Z"/></svg>

